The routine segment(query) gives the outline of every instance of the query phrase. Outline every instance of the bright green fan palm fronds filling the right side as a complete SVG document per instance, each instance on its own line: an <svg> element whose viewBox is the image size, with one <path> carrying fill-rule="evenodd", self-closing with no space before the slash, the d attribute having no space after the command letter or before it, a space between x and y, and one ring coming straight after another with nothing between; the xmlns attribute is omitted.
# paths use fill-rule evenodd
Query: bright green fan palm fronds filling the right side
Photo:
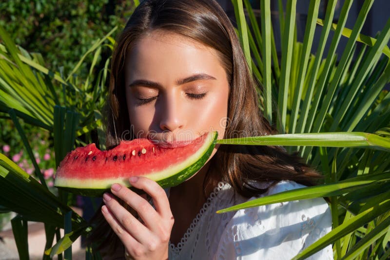
<svg viewBox="0 0 390 260"><path fill-rule="evenodd" d="M242 138L229 143L261 141L262 144L291 145L289 151L298 150L307 162L325 174L325 184L260 198L220 212L280 201L329 197L333 230L295 259L304 259L330 243L333 243L335 259L385 259L390 252L390 93L384 88L390 82L387 46L390 19L374 39L360 34L373 0L364 1L352 29L344 27L352 0L344 1L337 24L332 23L336 0L328 1L324 20L318 19L320 0L312 0L308 6L304 39L298 42L296 0L288 0L286 10L283 10L282 1L278 1L279 28L271 22L270 0L260 1L261 26L248 0L243 1L248 23L243 6L239 4L241 1L233 2L244 53L262 84L264 114L279 132L289 133L289 138ZM322 26L320 40L318 46L312 46L317 23ZM334 30L333 37L329 37L330 30ZM281 60L276 55L276 34L280 34L282 41ZM337 53L341 36L349 39L346 48ZM328 41L331 45L325 56L324 47ZM366 45L358 50L357 41ZM315 55L311 54L312 47L316 48ZM340 57L338 62L337 56ZM273 105L272 97L277 98L277 106ZM383 137L382 145L387 149L349 149L346 143L354 141L347 136L339 138L339 134L328 139L324 136L328 142L318 140L322 144L313 148L314 142L310 138L323 136L315 133L334 131L351 132L348 134L353 138L359 131L375 133L375 136ZM309 136L309 140L299 142L302 140L299 138ZM367 137L365 141L370 140ZM338 148L327 149L329 146Z"/></svg>

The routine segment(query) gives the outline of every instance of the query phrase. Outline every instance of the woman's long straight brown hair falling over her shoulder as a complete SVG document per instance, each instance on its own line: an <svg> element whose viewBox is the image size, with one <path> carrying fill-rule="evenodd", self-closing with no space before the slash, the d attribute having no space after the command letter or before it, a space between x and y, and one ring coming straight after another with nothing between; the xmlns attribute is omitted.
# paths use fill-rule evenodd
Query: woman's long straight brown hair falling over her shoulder
<svg viewBox="0 0 390 260"><path fill-rule="evenodd" d="M137 39L155 30L189 37L217 51L230 82L224 138L275 133L259 109L258 84L248 68L234 27L218 3L215 0L144 0L118 37L113 54L106 111L107 148L116 146L126 131L130 130L134 138L125 99L123 64ZM251 197L267 190L256 188L251 181L276 184L292 180L311 186L320 177L300 158L281 147L221 145L210 160L204 187L224 180L239 194ZM107 228L108 224L96 230L98 234L94 237L106 235L107 238ZM109 236L116 237L113 232Z"/></svg>

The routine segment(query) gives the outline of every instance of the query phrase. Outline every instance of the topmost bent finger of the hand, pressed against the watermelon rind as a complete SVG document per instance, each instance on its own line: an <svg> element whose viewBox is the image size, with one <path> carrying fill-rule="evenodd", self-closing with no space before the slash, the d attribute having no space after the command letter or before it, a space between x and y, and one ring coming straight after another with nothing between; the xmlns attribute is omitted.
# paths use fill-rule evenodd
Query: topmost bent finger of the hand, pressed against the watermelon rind
<svg viewBox="0 0 390 260"><path fill-rule="evenodd" d="M171 207L169 205L167 194L164 189L155 181L146 177L131 177L130 184L138 189L144 190L153 199L156 211L164 219L172 218Z"/></svg>

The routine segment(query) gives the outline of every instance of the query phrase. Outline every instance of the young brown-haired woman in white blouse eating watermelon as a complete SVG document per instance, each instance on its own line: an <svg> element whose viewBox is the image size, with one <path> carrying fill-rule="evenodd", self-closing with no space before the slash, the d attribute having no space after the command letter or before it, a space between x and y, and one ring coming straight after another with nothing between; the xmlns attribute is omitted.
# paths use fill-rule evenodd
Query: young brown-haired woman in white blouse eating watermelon
<svg viewBox="0 0 390 260"><path fill-rule="evenodd" d="M214 0L142 1L117 40L111 72L108 148L133 138L175 147L211 130L221 139L275 133L234 27ZM280 147L217 145L179 186L130 178L150 202L114 184L94 238L103 239L108 259L291 259L331 230L325 200L215 211L320 176ZM313 259L332 259L331 246Z"/></svg>

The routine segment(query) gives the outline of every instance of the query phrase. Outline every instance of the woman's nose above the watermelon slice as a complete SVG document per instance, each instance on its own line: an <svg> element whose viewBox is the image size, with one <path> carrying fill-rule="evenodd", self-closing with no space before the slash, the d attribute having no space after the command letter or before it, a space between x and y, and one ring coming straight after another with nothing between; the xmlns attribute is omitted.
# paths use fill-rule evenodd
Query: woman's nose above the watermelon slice
<svg viewBox="0 0 390 260"><path fill-rule="evenodd" d="M174 132L183 129L186 124L185 111L180 105L180 98L167 97L160 111L160 129Z"/></svg>

